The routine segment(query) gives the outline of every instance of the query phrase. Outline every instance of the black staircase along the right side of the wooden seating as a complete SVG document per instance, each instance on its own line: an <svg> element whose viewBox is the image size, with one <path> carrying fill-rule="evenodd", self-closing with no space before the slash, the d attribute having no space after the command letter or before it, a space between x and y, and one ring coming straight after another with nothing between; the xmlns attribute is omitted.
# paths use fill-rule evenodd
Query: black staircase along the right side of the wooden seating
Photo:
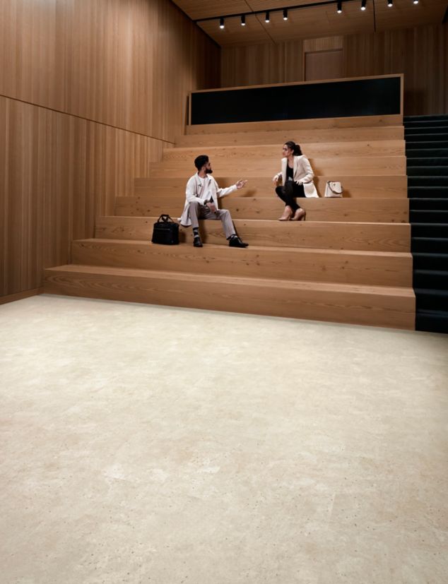
<svg viewBox="0 0 448 584"><path fill-rule="evenodd" d="M448 333L448 115L404 118L415 328Z"/></svg>

